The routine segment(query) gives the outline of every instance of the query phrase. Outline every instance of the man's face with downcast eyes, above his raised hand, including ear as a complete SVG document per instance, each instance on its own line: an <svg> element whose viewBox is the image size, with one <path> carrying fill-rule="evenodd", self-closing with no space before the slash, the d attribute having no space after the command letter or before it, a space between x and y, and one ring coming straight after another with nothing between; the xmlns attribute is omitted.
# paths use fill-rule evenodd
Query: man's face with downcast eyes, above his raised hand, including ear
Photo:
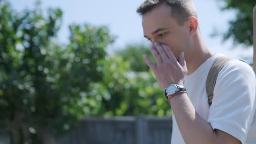
<svg viewBox="0 0 256 144"><path fill-rule="evenodd" d="M154 44L158 42L165 44L178 59L179 53L184 51L185 55L191 45L188 22L183 26L171 16L171 9L167 5L159 5L153 10L143 15L142 26L144 37Z"/></svg>

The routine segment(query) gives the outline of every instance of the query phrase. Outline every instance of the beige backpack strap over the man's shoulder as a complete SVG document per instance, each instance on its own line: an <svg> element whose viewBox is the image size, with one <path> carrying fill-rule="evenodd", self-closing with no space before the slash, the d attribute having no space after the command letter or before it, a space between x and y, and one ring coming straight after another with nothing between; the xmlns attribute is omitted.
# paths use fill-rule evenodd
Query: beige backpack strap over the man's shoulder
<svg viewBox="0 0 256 144"><path fill-rule="evenodd" d="M208 103L212 105L213 99L213 90L216 84L216 80L219 74L219 71L222 70L225 63L228 62L231 58L229 57L217 57L216 61L213 63L206 79L206 93L208 95Z"/></svg>

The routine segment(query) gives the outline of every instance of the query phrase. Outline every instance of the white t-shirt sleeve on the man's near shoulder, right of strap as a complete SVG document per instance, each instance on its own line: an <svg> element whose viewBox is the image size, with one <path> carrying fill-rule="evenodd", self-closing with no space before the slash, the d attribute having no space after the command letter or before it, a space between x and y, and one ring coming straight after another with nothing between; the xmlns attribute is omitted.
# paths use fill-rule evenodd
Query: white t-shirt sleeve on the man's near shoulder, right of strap
<svg viewBox="0 0 256 144"><path fill-rule="evenodd" d="M254 113L252 68L238 60L229 61L217 77L213 94L208 122L213 129L225 131L245 143Z"/></svg>

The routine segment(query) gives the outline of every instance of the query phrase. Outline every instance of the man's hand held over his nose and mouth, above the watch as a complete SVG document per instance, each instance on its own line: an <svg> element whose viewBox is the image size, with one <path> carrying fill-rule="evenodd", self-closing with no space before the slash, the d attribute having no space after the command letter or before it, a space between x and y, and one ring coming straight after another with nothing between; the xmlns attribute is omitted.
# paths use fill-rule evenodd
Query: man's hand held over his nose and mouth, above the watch
<svg viewBox="0 0 256 144"><path fill-rule="evenodd" d="M161 88L165 89L166 86L172 83L183 85L184 77L188 73L184 52L179 55L178 62L171 49L165 44L155 43L150 51L156 61L156 65L146 55L143 56L144 61L153 70Z"/></svg>

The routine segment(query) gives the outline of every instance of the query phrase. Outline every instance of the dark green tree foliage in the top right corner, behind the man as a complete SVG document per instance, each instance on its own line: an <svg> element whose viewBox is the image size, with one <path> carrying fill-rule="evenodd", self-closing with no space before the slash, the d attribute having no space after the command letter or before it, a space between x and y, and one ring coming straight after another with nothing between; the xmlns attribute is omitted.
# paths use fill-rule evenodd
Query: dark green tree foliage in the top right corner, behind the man
<svg viewBox="0 0 256 144"><path fill-rule="evenodd" d="M234 39L235 43L253 45L253 8L254 0L221 0L222 10L235 10L236 17L229 22L229 29L224 33L224 40Z"/></svg>

